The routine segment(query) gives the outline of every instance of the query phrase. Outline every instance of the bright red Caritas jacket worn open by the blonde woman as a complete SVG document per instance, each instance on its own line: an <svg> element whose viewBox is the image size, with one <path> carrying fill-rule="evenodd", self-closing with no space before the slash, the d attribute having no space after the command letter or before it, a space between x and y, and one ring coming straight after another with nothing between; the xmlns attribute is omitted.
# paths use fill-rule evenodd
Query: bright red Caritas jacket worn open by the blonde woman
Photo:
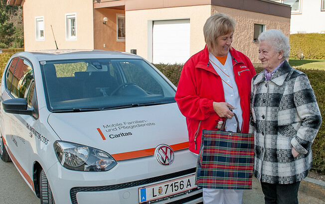
<svg viewBox="0 0 325 204"><path fill-rule="evenodd" d="M241 130L248 133L251 80L256 72L243 53L232 48L230 54L243 111ZM189 150L198 154L202 129L215 130L216 120L220 118L213 110L212 102L225 102L221 78L209 63L206 46L184 64L175 100L186 117Z"/></svg>

